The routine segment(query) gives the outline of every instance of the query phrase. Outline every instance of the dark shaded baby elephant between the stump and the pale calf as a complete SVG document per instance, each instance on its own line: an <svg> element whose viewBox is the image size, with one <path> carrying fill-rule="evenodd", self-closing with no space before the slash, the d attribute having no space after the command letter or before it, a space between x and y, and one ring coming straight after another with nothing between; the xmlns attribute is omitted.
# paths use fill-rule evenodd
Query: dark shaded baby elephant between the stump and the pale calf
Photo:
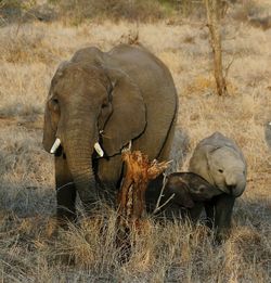
<svg viewBox="0 0 271 283"><path fill-rule="evenodd" d="M199 175L193 172L173 172L167 176L160 207L167 206L169 211L180 208L188 208L189 215L193 220L193 210L196 207L216 195L223 193L215 185L208 183ZM170 208L169 208L170 207Z"/></svg>

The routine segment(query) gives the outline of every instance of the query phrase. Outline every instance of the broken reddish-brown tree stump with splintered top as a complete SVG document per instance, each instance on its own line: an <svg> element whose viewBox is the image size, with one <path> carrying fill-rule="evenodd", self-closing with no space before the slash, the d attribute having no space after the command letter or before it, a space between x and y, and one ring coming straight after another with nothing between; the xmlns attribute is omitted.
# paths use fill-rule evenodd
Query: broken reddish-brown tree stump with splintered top
<svg viewBox="0 0 271 283"><path fill-rule="evenodd" d="M157 160L151 163L147 156L139 151L122 153L122 159L126 175L117 200L117 245L124 252L120 257L121 262L126 262L130 257L131 232L140 232L147 226L144 220L147 184L168 167L168 163L157 163Z"/></svg>

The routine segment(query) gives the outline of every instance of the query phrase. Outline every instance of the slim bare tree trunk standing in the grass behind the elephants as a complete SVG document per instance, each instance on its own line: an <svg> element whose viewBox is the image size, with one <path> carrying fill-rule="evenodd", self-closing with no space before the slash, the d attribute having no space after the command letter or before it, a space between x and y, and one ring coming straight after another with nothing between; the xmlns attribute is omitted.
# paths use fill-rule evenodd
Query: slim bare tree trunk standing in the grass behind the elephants
<svg viewBox="0 0 271 283"><path fill-rule="evenodd" d="M219 0L205 0L210 43L214 53L214 72L218 95L227 95L227 85L222 68L221 36L220 36L220 4Z"/></svg>

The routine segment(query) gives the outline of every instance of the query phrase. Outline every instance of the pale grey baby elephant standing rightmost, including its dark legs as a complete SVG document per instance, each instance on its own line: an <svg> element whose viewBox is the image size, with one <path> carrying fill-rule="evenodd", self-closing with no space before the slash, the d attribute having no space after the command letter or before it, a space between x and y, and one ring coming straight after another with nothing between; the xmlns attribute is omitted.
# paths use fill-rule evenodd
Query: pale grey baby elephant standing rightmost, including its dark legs
<svg viewBox="0 0 271 283"><path fill-rule="evenodd" d="M223 193L205 202L208 226L215 227L217 240L228 234L235 198L246 188L247 166L244 155L236 143L220 132L202 140L190 160L190 171L198 173ZM203 205L192 209L197 219Z"/></svg>

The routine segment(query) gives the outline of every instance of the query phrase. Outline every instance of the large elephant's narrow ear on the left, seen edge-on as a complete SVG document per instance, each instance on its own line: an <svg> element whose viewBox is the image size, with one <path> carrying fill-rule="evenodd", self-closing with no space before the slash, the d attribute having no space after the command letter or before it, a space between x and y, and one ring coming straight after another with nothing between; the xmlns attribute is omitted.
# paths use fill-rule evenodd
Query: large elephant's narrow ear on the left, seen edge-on
<svg viewBox="0 0 271 283"><path fill-rule="evenodd" d="M51 99L52 89L53 89L54 85L56 83L59 77L62 76L62 72L67 64L68 64L68 62L66 62L66 61L62 62L60 64L59 68L56 69L56 72L52 78L50 91L49 91L49 94L48 94L48 98L46 101L42 144L43 144L44 150L49 153L55 141L56 125L54 125L52 113L50 112L50 110L48 107L48 101Z"/></svg>

